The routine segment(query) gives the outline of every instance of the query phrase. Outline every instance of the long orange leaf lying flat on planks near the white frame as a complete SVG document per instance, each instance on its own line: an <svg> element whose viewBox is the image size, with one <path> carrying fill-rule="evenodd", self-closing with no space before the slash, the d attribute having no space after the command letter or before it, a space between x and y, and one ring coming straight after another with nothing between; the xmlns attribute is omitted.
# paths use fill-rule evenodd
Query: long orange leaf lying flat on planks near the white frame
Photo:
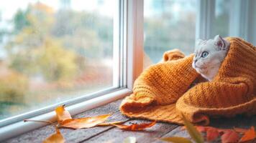
<svg viewBox="0 0 256 143"><path fill-rule="evenodd" d="M95 127L106 121L111 114L103 114L97 117L85 117L80 119L65 119L61 122L60 127L71 128L71 129L82 129Z"/></svg>

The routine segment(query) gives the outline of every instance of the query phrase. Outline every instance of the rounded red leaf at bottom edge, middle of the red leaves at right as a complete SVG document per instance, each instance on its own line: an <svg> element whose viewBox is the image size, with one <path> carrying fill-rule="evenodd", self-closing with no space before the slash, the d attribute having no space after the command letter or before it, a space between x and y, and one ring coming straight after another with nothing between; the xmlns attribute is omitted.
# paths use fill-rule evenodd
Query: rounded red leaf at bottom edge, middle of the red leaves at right
<svg viewBox="0 0 256 143"><path fill-rule="evenodd" d="M224 131L224 134L221 136L222 143L238 142L238 140L239 136L237 132L234 132L231 129Z"/></svg>

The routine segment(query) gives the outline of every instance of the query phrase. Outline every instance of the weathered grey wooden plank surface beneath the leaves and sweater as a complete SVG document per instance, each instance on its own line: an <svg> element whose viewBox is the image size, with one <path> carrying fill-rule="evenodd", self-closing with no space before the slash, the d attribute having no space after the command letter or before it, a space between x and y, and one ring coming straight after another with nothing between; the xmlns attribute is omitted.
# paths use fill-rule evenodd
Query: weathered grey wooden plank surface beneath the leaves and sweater
<svg viewBox="0 0 256 143"><path fill-rule="evenodd" d="M111 102L102 107L92 109L75 117L93 117L100 114L113 113L110 117L111 121L126 121L132 123L145 122L142 119L129 119L119 112L119 104L122 100ZM250 128L256 126L256 116L254 117L235 117L231 119L212 119L210 126L219 128L241 127ZM60 129L60 132L65 137L66 142L123 142L126 137L136 137L137 142L160 142L156 138L159 137L189 137L188 133L180 130L176 124L168 124L158 122L155 126L142 132L129 132L117 129L116 127L93 127L90 129ZM55 133L54 127L47 125L45 127L35 129L32 132L27 132L18 137L14 137L5 142L42 142L44 139Z"/></svg>

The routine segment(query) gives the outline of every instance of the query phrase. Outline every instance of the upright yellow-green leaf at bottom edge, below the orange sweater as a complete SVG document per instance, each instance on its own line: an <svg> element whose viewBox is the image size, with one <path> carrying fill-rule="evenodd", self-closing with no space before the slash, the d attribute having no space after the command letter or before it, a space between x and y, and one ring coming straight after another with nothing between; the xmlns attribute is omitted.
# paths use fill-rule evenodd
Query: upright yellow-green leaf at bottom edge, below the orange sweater
<svg viewBox="0 0 256 143"><path fill-rule="evenodd" d="M182 116L183 116L183 122L186 126L186 129L188 130L188 134L191 135L192 139L197 143L204 143L204 138L202 137L200 132L198 132L196 127L194 127L193 124L188 122L188 120L184 117L184 115Z"/></svg>

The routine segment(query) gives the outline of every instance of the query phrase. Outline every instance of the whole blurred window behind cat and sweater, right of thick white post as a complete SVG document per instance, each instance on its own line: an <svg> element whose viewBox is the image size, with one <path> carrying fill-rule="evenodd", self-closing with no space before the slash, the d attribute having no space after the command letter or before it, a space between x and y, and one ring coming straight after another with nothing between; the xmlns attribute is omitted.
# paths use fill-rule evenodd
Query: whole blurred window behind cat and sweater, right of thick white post
<svg viewBox="0 0 256 143"><path fill-rule="evenodd" d="M239 36L256 44L255 1L145 0L144 69L162 59L164 51L193 53L196 39Z"/></svg>

